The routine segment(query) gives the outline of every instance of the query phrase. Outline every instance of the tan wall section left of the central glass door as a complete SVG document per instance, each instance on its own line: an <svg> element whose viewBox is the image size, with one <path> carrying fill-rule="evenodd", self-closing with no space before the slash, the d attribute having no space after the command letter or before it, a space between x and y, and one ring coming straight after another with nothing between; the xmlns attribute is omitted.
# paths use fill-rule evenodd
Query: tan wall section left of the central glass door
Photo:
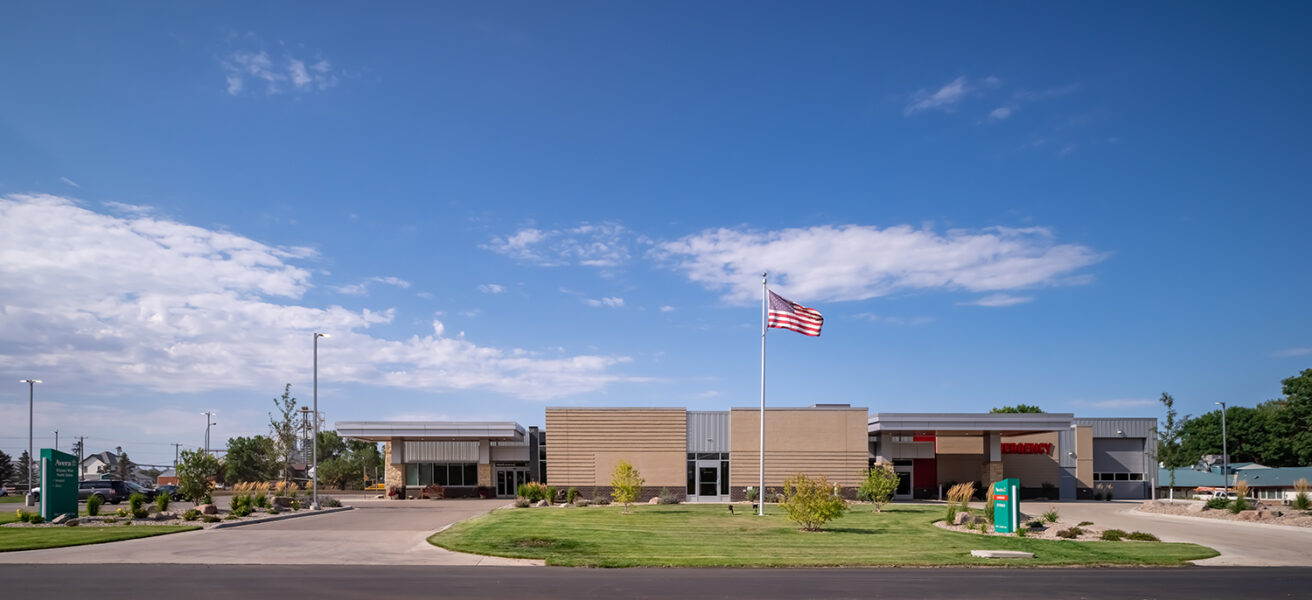
<svg viewBox="0 0 1312 600"><path fill-rule="evenodd" d="M609 486L621 460L647 486L687 483L687 411L684 408L547 408L547 483Z"/></svg>

